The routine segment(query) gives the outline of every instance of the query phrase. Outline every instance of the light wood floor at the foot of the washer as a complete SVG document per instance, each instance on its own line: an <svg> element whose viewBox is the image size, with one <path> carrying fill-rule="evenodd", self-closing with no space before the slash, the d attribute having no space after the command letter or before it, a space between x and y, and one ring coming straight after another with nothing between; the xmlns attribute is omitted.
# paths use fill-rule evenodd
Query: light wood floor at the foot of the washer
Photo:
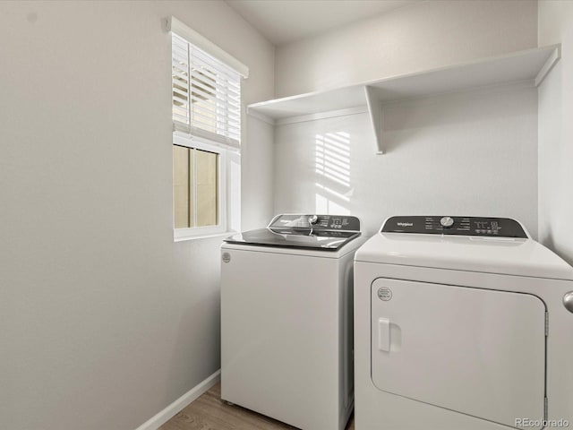
<svg viewBox="0 0 573 430"><path fill-rule="evenodd" d="M354 430L354 418L346 430ZM221 400L218 383L187 408L159 427L159 430L295 430L293 426L252 412L240 406L230 406Z"/></svg>

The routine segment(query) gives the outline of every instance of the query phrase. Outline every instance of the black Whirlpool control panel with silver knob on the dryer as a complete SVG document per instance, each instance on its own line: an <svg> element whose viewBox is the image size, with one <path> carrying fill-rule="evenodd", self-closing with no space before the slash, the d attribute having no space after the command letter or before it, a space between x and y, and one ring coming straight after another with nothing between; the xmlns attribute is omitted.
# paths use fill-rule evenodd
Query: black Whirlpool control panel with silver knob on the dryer
<svg viewBox="0 0 573 430"><path fill-rule="evenodd" d="M487 236L527 238L515 219L491 217L414 216L391 217L381 233L417 233L425 235Z"/></svg>

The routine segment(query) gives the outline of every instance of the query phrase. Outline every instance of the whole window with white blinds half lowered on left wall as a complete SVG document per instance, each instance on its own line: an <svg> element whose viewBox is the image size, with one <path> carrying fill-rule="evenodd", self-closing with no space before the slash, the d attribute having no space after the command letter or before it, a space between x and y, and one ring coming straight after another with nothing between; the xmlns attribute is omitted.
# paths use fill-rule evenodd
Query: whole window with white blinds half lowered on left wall
<svg viewBox="0 0 573 430"><path fill-rule="evenodd" d="M248 69L171 18L175 238L238 228L241 79Z"/></svg>

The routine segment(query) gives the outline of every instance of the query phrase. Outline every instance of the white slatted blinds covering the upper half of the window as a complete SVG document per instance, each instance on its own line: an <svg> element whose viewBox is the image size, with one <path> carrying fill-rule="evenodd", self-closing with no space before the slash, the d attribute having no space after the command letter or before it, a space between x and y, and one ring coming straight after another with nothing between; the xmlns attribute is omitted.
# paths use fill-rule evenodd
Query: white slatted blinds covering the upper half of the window
<svg viewBox="0 0 573 430"><path fill-rule="evenodd" d="M174 129L238 148L241 74L172 32Z"/></svg>

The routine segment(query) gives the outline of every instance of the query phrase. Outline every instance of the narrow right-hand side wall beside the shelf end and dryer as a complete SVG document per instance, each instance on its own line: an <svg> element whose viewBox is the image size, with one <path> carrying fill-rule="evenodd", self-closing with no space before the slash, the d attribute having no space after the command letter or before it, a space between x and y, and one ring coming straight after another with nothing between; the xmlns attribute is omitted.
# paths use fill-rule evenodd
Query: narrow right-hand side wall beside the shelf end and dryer
<svg viewBox="0 0 573 430"><path fill-rule="evenodd" d="M539 44L561 59L539 89L539 238L573 264L573 2L539 2Z"/></svg>

